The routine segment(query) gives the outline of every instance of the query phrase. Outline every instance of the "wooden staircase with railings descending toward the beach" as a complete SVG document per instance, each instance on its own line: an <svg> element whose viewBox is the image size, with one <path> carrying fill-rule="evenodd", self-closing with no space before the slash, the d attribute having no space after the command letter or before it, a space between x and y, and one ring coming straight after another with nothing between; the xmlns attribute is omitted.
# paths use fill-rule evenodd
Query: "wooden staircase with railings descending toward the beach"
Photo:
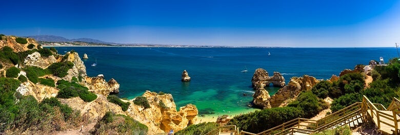
<svg viewBox="0 0 400 135"><path fill-rule="evenodd" d="M311 134L313 132L333 129L344 125L357 127L364 122L375 123L377 128L385 134L397 135L400 132L398 129L398 124L400 124L400 101L393 98L389 107L385 108L382 104L372 103L366 96L363 96L362 102L356 102L317 121L297 118L260 133L251 133L243 130L239 132L236 126L222 126L207 134L216 135L227 132L231 135Z"/></svg>

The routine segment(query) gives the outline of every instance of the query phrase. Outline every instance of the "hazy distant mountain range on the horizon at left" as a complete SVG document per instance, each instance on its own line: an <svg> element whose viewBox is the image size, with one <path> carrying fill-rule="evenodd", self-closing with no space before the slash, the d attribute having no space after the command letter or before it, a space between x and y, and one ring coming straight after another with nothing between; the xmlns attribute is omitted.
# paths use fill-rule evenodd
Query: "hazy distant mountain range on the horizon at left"
<svg viewBox="0 0 400 135"><path fill-rule="evenodd" d="M74 42L74 41L80 41L80 42L94 42L94 43L105 43L105 44L115 44L112 42L105 42L97 39L91 39L91 38L77 38L77 39L67 39L65 37L61 36L53 36L53 35L35 35L35 36L25 36L29 38L34 38L37 41L49 41L49 42Z"/></svg>

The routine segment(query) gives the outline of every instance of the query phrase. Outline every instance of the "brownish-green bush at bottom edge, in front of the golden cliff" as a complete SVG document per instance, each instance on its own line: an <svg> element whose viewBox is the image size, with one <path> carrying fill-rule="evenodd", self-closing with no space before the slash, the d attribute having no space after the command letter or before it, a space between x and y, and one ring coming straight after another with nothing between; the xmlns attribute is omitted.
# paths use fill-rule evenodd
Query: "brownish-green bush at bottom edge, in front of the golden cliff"
<svg viewBox="0 0 400 135"><path fill-rule="evenodd" d="M108 111L94 126L92 134L140 134L148 132L148 127L131 117L115 115Z"/></svg>

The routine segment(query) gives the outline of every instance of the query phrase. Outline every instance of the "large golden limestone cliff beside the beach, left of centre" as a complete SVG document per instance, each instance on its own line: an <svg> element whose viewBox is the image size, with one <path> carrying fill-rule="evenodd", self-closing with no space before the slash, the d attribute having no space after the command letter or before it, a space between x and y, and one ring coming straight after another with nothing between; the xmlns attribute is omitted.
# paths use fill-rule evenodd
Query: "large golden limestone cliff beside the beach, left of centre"
<svg viewBox="0 0 400 135"><path fill-rule="evenodd" d="M175 103L170 94L158 95L146 91L143 97L146 97L149 101L150 108L144 109L135 105L133 100L123 100L124 102L131 102L127 111L122 111L118 105L108 102L104 95L97 95L97 99L89 103L78 97L61 99L61 101L74 109L81 110L81 114L89 117L93 122L101 119L107 111L132 117L145 124L149 128L149 134L168 132L170 129L178 131L193 124L197 119L198 110L196 106L188 104L176 111ZM160 102L163 102L165 106L161 106Z"/></svg>

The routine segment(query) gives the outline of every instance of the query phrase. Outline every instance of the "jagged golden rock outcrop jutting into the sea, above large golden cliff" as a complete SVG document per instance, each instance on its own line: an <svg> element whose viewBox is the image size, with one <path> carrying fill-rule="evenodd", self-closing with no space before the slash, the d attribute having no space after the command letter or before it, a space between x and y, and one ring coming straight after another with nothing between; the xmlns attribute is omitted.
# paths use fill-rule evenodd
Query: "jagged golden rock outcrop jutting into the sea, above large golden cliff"
<svg viewBox="0 0 400 135"><path fill-rule="evenodd" d="M108 96L109 94L119 93L119 84L111 78L108 82L104 79L104 75L100 74L97 77L86 77L85 86L89 88L89 92Z"/></svg>

